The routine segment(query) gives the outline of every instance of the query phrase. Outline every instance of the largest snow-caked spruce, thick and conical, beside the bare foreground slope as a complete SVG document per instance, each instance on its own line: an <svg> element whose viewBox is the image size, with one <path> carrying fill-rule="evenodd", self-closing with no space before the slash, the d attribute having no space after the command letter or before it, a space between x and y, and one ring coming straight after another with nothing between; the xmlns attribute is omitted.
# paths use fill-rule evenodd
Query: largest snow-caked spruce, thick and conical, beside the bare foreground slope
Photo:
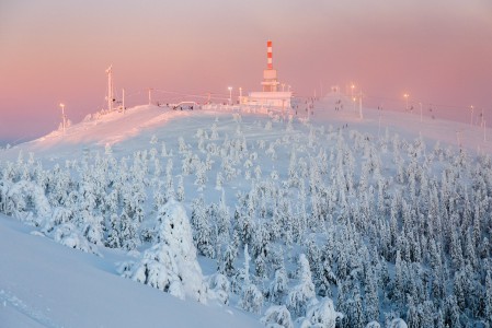
<svg viewBox="0 0 492 328"><path fill-rule="evenodd" d="M123 276L183 300L206 303L206 286L185 209L170 199L160 212L157 244L144 253L139 262L124 268Z"/></svg>

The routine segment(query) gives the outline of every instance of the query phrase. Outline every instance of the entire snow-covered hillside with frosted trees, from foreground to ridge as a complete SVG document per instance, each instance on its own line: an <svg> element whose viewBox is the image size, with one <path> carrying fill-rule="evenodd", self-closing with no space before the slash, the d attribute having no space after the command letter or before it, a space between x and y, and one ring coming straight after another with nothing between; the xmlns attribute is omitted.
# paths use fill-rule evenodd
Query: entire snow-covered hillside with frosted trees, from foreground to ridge
<svg viewBox="0 0 492 328"><path fill-rule="evenodd" d="M0 218L3 249L19 245L0 318L492 324L488 131L363 115L339 94L285 115L141 106L0 150L0 212L25 224Z"/></svg>

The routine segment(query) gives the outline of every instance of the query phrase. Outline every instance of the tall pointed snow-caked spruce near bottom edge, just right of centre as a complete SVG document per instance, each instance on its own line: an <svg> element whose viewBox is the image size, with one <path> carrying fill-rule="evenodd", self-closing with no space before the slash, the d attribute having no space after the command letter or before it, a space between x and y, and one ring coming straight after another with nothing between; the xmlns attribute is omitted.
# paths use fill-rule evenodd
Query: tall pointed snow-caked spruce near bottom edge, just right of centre
<svg viewBox="0 0 492 328"><path fill-rule="evenodd" d="M314 284L311 279L311 269L306 255L299 256L299 284L294 286L287 295L287 308L296 317L306 314L307 304L314 298Z"/></svg>

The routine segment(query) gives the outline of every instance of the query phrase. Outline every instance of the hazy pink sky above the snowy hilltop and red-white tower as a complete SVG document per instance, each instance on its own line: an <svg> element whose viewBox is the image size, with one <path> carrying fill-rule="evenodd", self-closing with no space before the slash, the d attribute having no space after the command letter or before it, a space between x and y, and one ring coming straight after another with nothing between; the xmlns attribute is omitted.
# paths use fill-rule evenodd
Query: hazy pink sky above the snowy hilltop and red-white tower
<svg viewBox="0 0 492 328"><path fill-rule="evenodd" d="M130 106L147 87L259 90L267 39L299 95L354 82L375 107L402 109L407 92L455 119L483 108L492 126L490 0L3 0L0 140L56 129L60 102L73 121L104 107L111 63Z"/></svg>

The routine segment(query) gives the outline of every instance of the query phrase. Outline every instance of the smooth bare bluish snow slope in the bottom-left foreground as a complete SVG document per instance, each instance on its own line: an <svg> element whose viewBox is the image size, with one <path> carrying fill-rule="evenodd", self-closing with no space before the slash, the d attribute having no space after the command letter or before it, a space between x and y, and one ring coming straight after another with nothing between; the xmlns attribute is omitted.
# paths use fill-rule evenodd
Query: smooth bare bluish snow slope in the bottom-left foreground
<svg viewBox="0 0 492 328"><path fill-rule="evenodd" d="M0 214L1 327L255 327L230 307L181 301L121 278L107 260L31 235ZM110 256L110 255L106 255Z"/></svg>

